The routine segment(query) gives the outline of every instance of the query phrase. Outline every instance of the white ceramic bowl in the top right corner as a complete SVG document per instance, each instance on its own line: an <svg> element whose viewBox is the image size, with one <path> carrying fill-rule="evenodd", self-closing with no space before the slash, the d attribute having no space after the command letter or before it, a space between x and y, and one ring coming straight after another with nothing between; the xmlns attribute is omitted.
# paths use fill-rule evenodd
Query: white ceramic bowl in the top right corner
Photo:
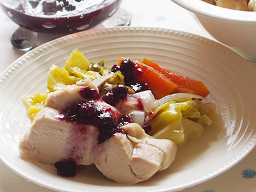
<svg viewBox="0 0 256 192"><path fill-rule="evenodd" d="M195 17L216 40L256 62L256 12L221 8L201 0L171 0Z"/></svg>

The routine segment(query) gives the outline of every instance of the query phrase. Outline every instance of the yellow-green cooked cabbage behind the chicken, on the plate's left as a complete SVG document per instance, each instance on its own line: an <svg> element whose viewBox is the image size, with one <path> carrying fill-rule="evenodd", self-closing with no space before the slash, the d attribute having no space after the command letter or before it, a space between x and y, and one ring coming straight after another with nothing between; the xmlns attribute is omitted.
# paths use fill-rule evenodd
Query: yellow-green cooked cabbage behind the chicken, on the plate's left
<svg viewBox="0 0 256 192"><path fill-rule="evenodd" d="M52 65L47 72L47 92L44 94L36 93L22 97L28 116L33 121L37 113L44 106L47 99L47 93L54 92L64 86L76 84L82 79L95 79L109 74L110 68L104 66L104 61L99 63L90 63L77 49L71 52L70 58L66 61L64 67ZM113 84L122 83L124 77L122 74L115 73L114 77L109 79ZM106 84L110 86L110 84ZM108 88L106 88L108 89Z"/></svg>

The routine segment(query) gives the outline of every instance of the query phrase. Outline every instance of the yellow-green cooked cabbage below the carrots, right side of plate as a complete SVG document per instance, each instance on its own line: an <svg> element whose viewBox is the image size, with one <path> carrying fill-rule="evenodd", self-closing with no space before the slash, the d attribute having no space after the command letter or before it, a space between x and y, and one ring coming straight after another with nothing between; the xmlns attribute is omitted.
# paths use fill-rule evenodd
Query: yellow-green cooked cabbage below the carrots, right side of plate
<svg viewBox="0 0 256 192"><path fill-rule="evenodd" d="M210 108L198 99L193 99L193 95L186 94L183 97L170 97L168 102L152 110L146 118L147 124L151 125L150 135L175 143L182 143L185 136L186 140L196 140L201 136L204 125L211 124L214 120L214 105ZM156 100L156 103L161 102Z"/></svg>

